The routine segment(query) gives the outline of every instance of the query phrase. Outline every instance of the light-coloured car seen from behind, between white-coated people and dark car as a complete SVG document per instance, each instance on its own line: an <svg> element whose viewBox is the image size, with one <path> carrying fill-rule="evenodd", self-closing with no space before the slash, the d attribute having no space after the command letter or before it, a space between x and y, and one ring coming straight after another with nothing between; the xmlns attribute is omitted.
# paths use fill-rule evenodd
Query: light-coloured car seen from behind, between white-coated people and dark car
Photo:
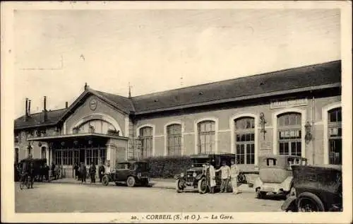
<svg viewBox="0 0 353 224"><path fill-rule="evenodd" d="M267 194L290 196L294 194L292 165L306 165L306 158L295 155L261 156L259 175L253 184L256 198L263 199Z"/></svg>

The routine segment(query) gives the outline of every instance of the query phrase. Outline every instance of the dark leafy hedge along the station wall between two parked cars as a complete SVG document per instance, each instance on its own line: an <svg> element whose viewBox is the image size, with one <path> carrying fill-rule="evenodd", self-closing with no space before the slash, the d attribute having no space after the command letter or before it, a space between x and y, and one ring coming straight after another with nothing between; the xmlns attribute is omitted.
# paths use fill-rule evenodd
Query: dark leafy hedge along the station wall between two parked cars
<svg viewBox="0 0 353 224"><path fill-rule="evenodd" d="M173 178L191 167L189 156L159 156L145 159L150 167L152 178Z"/></svg>

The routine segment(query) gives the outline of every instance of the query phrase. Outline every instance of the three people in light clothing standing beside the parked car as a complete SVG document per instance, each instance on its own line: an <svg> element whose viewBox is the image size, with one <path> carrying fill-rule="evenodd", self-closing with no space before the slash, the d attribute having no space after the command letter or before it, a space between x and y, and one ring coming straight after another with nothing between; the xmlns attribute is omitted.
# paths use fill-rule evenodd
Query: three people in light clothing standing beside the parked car
<svg viewBox="0 0 353 224"><path fill-rule="evenodd" d="M229 181L232 184L233 194L240 193L238 190L238 182L237 182L239 169L237 167L237 164L235 163L235 160L231 161L232 165L230 167L227 165L225 161L222 161L222 166L217 170L213 166L212 162L214 161L208 161L207 165L205 165L204 167L204 172L206 173L206 177L207 177L206 181L208 186L210 187L210 193L211 194L215 193L216 172L221 172L221 187L220 187L221 193L227 192Z"/></svg>

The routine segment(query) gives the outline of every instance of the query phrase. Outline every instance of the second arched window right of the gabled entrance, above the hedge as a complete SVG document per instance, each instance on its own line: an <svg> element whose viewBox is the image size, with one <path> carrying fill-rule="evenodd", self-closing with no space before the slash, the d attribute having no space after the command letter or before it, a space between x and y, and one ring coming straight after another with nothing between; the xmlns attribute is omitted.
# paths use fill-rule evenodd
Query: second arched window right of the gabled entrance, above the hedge
<svg viewBox="0 0 353 224"><path fill-rule="evenodd" d="M167 126L167 155L181 155L181 124Z"/></svg>

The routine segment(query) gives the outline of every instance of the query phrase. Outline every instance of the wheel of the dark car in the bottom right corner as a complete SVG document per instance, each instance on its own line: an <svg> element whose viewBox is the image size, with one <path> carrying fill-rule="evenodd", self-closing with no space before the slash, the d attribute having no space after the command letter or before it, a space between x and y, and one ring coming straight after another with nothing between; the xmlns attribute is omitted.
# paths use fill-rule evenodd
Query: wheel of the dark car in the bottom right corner
<svg viewBox="0 0 353 224"><path fill-rule="evenodd" d="M297 207L299 212L325 211L325 206L323 206L321 199L309 192L301 193L298 196Z"/></svg>

